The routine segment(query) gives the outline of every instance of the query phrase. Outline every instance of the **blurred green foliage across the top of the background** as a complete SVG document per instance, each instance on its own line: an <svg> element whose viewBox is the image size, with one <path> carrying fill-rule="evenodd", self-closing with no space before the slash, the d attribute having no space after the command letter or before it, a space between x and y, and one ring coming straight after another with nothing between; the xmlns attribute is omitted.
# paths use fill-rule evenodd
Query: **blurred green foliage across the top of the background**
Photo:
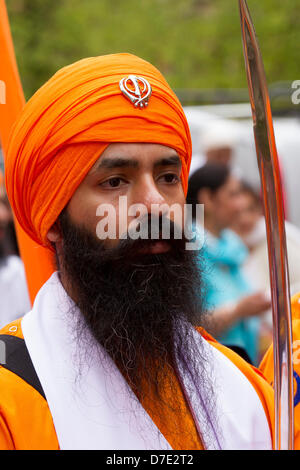
<svg viewBox="0 0 300 470"><path fill-rule="evenodd" d="M269 83L299 79L298 0L249 0ZM83 57L132 52L173 88L244 88L237 0L7 0L27 97Z"/></svg>

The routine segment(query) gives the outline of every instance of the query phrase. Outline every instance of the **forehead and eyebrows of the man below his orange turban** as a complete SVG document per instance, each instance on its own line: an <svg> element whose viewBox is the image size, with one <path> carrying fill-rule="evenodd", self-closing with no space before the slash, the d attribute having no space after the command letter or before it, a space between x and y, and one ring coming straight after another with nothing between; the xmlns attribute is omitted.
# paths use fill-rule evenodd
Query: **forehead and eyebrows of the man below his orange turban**
<svg viewBox="0 0 300 470"><path fill-rule="evenodd" d="M90 173L101 169L150 165L181 165L177 151L171 147L152 143L112 143L107 146L90 170Z"/></svg>

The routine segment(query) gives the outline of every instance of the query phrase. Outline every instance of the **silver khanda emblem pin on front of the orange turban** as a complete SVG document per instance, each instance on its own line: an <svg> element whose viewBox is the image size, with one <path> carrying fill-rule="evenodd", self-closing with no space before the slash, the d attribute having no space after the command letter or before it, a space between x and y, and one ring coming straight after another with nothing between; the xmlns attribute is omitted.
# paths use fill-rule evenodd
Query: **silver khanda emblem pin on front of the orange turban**
<svg viewBox="0 0 300 470"><path fill-rule="evenodd" d="M127 78L120 80L119 87L135 107L144 108L148 106L152 88L145 78L129 75Z"/></svg>

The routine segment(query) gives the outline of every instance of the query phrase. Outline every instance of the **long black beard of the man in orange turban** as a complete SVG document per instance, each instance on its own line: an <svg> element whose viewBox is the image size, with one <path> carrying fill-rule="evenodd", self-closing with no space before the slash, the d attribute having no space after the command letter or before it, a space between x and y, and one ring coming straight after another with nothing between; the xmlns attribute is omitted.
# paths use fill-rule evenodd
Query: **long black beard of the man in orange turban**
<svg viewBox="0 0 300 470"><path fill-rule="evenodd" d="M205 359L199 361L190 335L192 325L200 326L203 320L199 259L185 249L184 237L174 239L174 225L168 252L142 255L140 250L153 241L125 239L108 249L105 242L72 223L66 210L59 221L63 235L59 268L76 293L85 325L139 400L154 391L157 409L166 387L172 387L168 370L174 370L175 353L184 351L189 366L194 364L195 373L203 378ZM178 404L168 406L175 409Z"/></svg>

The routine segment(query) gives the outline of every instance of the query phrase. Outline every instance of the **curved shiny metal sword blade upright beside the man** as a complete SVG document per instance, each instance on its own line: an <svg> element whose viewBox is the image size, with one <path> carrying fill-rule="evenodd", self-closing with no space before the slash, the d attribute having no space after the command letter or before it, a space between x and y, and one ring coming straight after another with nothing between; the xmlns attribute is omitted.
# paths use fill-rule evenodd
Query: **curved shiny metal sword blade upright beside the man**
<svg viewBox="0 0 300 470"><path fill-rule="evenodd" d="M275 447L293 449L292 321L283 196L268 86L245 0L239 0L244 57L263 190L273 311Z"/></svg>

